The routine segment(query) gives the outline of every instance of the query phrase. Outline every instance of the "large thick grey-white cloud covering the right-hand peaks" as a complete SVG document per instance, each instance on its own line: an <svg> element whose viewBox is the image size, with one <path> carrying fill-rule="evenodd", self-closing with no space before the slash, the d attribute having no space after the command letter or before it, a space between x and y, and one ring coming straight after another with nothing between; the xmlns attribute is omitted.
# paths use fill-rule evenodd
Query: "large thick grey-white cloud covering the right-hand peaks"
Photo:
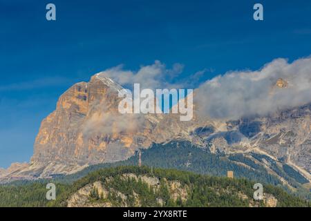
<svg viewBox="0 0 311 221"><path fill-rule="evenodd" d="M278 79L288 83L276 86ZM267 115L311 102L311 58L275 59L261 70L234 71L201 84L195 92L198 112L211 118Z"/></svg>

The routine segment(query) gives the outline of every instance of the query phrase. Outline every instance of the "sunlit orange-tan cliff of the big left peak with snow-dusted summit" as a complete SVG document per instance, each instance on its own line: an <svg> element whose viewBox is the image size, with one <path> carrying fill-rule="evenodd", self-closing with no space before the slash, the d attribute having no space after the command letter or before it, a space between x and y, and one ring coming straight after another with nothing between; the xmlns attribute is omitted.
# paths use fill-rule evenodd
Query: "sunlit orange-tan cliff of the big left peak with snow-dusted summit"
<svg viewBox="0 0 311 221"><path fill-rule="evenodd" d="M144 144L138 138L150 133L145 128L152 123L118 113L121 89L100 75L69 88L41 123L31 162L96 164L131 156L138 143Z"/></svg>

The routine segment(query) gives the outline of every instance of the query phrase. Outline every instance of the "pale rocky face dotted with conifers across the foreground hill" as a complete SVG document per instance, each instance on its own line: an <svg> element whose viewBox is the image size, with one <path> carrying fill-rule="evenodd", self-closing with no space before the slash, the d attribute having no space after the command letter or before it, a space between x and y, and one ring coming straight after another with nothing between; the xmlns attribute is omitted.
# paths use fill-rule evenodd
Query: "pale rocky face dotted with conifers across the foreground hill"
<svg viewBox="0 0 311 221"><path fill-rule="evenodd" d="M200 177L202 179L202 177ZM254 200L249 194L243 191L237 191L232 184L227 187L213 185L212 182L198 185L196 183L185 184L180 180L167 179L166 177L157 177L150 174L123 173L120 175L102 177L101 181L96 181L79 188L77 191L69 195L68 200L64 202L64 206L68 207L115 207L115 206L135 206L139 207L151 200L156 202L156 206L167 206L164 202L169 200L173 203L184 203L191 200L193 193L198 188L205 189L213 198L226 198L227 195L234 196L237 200L245 202L245 206L249 207L276 207L278 199L271 193L263 193L263 199ZM192 182L194 179L192 179ZM191 181L189 181L191 182ZM126 188L124 186L128 185ZM149 193L153 194L153 198L146 198L144 192L141 191L142 186L148 186ZM207 187L206 185L211 185ZM123 186L123 187L122 187ZM244 190L245 191L245 190ZM206 195L208 198L208 195ZM203 206L213 206L212 200ZM153 203L154 203L153 202Z"/></svg>

